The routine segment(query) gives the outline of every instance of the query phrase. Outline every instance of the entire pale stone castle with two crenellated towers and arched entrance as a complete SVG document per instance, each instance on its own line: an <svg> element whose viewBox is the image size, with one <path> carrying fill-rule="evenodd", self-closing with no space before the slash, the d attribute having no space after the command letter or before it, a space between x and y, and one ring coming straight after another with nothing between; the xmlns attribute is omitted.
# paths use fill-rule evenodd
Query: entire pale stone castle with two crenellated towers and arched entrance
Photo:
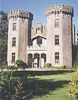
<svg viewBox="0 0 78 100"><path fill-rule="evenodd" d="M47 25L32 27L33 14L14 10L8 13L8 65L18 59L43 68L45 63L72 67L74 45L73 8L55 5L46 9Z"/></svg>

